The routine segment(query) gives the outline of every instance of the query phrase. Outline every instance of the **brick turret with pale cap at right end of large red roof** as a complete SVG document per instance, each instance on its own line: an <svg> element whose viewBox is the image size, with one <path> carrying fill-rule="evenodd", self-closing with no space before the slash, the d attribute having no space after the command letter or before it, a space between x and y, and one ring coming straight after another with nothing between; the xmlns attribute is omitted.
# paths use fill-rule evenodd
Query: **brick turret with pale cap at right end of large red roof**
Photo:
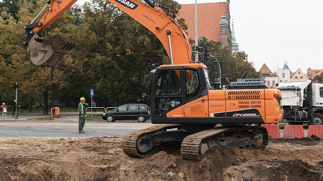
<svg viewBox="0 0 323 181"><path fill-rule="evenodd" d="M232 44L231 31L230 31L230 26L228 24L226 16L222 16L221 21L220 21L220 42L230 52L232 51L232 49L231 49L231 44Z"/></svg>

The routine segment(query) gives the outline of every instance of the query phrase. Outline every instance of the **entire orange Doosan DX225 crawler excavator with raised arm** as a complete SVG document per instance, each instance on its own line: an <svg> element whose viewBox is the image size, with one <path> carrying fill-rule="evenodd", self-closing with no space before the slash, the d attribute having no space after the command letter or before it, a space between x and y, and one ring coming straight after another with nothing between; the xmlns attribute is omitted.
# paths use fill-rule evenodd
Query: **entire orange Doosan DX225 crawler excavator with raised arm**
<svg viewBox="0 0 323 181"><path fill-rule="evenodd" d="M74 46L62 37L48 43L40 33L75 1L49 0L32 23L24 26L24 44L34 64L53 66ZM200 160L217 146L266 148L268 132L251 124L272 124L282 119L279 90L267 89L264 82L231 82L223 88L218 83L223 76L223 62L214 57L211 65L217 65L220 71L211 72L211 76L203 63L193 63L187 35L175 16L164 13L170 9L155 0L109 1L154 33L171 60L171 65L158 66L153 71L149 96L151 122L161 125L127 133L122 143L127 155L144 157L175 144L180 145L182 158Z"/></svg>

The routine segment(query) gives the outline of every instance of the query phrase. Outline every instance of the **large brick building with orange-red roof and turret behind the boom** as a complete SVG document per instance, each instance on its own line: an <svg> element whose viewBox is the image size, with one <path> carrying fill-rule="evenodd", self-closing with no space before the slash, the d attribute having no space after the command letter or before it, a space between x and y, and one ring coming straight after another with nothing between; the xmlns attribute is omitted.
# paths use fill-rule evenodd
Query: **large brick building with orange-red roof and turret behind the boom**
<svg viewBox="0 0 323 181"><path fill-rule="evenodd" d="M230 0L197 4L197 37L221 42L231 51ZM195 4L181 4L179 17L185 19L188 37L195 39Z"/></svg>

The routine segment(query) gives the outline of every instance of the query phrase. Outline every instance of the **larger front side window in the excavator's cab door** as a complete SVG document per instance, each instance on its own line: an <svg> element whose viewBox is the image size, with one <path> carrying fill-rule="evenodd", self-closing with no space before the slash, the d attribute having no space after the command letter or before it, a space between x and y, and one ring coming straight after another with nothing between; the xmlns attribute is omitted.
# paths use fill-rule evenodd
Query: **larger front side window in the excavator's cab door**
<svg viewBox="0 0 323 181"><path fill-rule="evenodd" d="M180 70L162 70L156 86L156 95L180 95Z"/></svg>

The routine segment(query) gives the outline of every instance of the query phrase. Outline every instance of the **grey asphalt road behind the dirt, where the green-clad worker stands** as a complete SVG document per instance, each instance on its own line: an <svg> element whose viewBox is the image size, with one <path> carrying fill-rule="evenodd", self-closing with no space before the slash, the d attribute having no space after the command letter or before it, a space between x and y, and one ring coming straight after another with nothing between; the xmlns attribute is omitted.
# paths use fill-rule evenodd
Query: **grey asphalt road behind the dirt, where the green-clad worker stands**
<svg viewBox="0 0 323 181"><path fill-rule="evenodd" d="M102 113L94 114L102 115ZM141 130L153 126L150 122L134 121L87 121L84 131L78 132L77 113L62 113L61 118L54 121L37 121L31 118L44 117L42 114L21 114L19 119L8 117L0 120L0 137L95 137L124 136L127 132ZM283 136L284 130L280 130ZM307 136L307 130L304 131Z"/></svg>

